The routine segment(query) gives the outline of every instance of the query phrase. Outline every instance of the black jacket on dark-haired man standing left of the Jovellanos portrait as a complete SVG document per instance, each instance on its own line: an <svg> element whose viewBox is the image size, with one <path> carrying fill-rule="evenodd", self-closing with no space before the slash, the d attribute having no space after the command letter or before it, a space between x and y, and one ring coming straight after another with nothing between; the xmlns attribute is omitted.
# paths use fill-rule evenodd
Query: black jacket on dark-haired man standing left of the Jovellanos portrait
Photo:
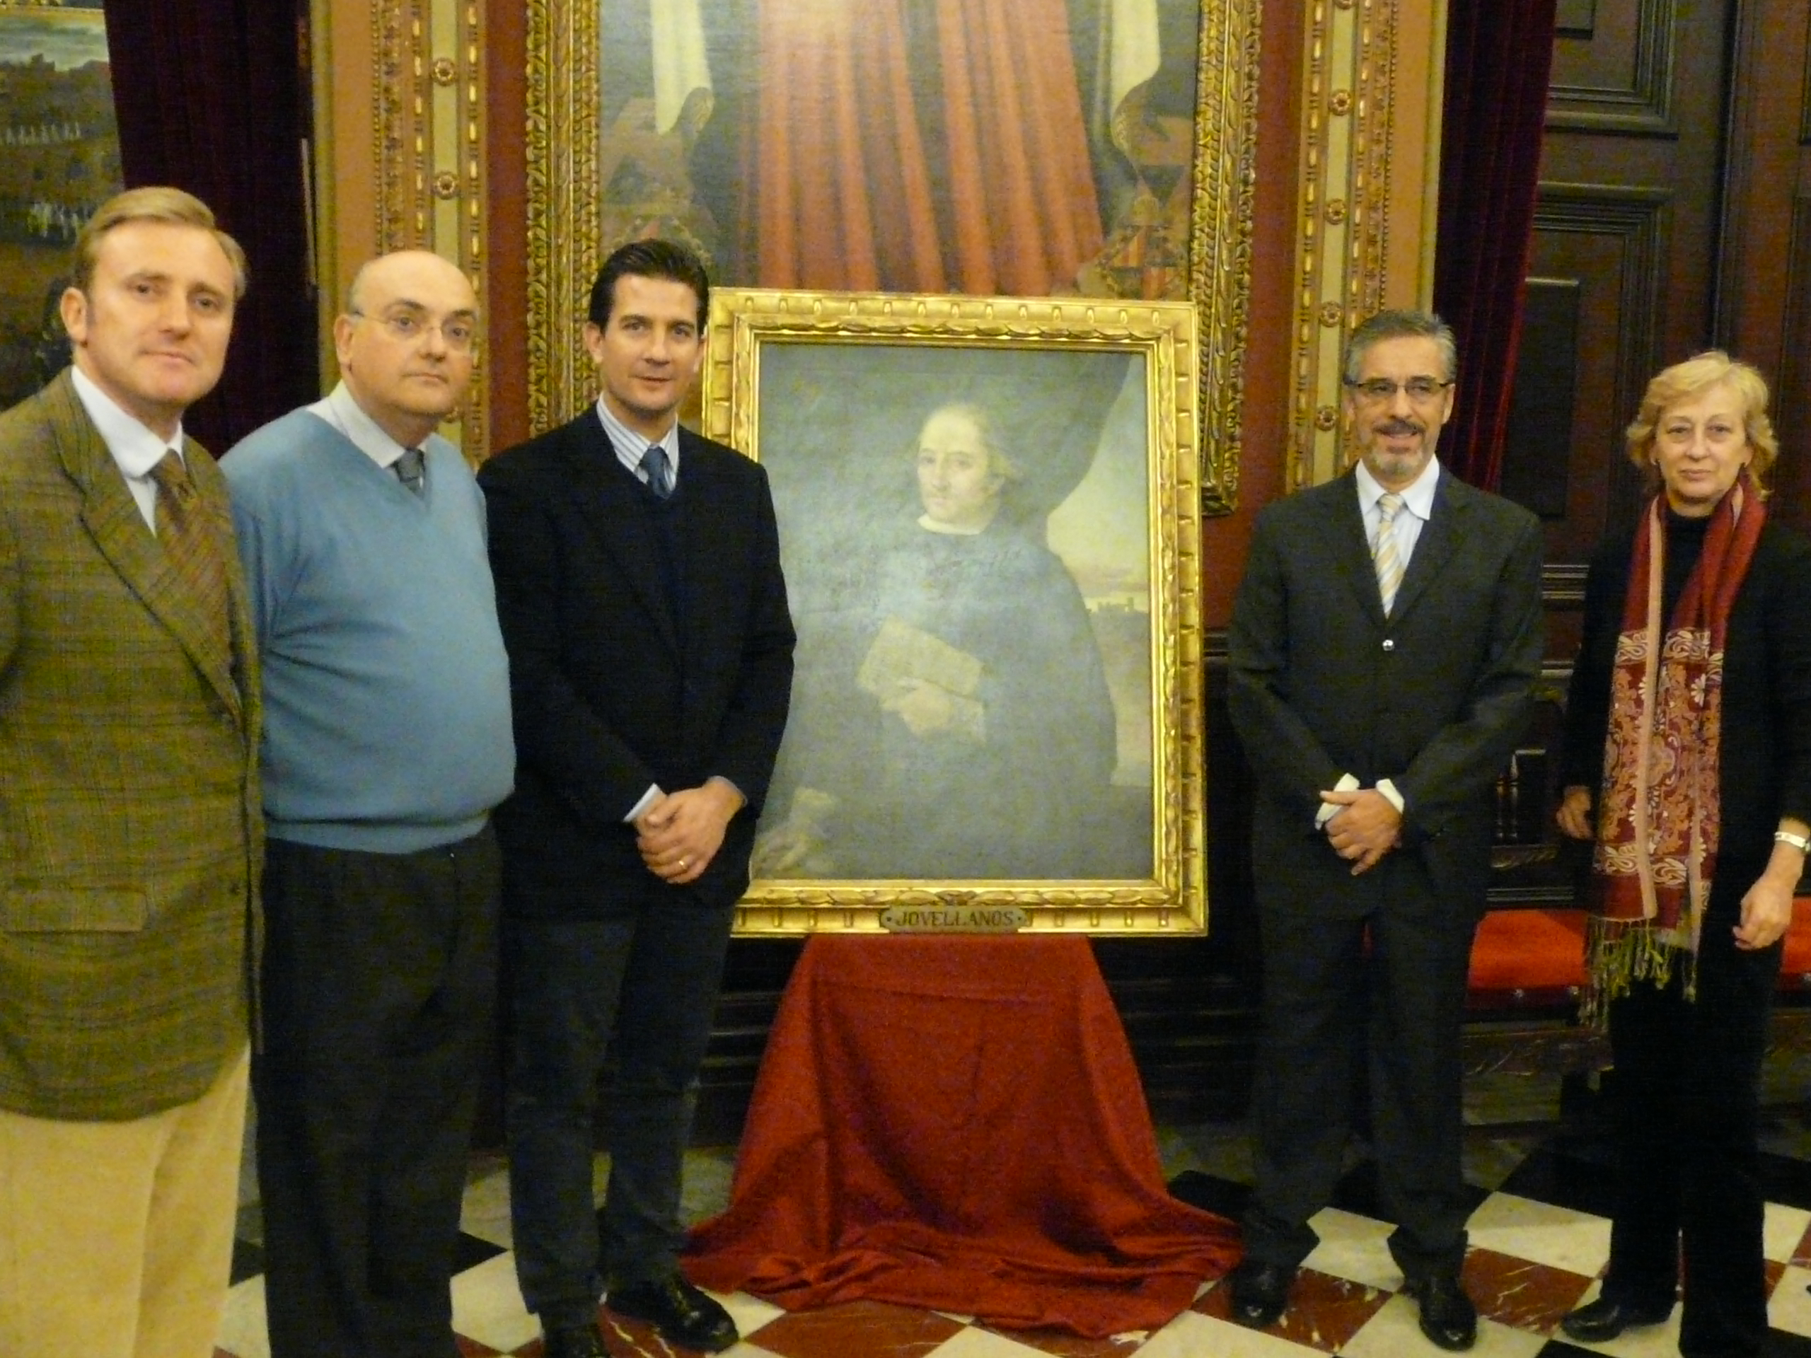
<svg viewBox="0 0 1811 1358"><path fill-rule="evenodd" d="M683 626L647 491L594 409L493 458L478 482L516 713L516 793L496 815L505 909L594 918L676 891L735 902L793 672L766 471L681 429ZM748 806L704 875L670 887L623 817L650 784L677 791L712 775Z"/></svg>

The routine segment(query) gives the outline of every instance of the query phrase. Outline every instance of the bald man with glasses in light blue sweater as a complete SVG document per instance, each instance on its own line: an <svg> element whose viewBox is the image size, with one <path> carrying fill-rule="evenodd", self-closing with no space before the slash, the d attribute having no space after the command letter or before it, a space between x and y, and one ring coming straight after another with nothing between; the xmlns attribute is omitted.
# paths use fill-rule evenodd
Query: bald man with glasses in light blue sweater
<svg viewBox="0 0 1811 1358"><path fill-rule="evenodd" d="M366 264L340 384L225 460L264 657L264 1047L273 1358L447 1358L496 978L509 665L484 496L436 431L471 380L465 275Z"/></svg>

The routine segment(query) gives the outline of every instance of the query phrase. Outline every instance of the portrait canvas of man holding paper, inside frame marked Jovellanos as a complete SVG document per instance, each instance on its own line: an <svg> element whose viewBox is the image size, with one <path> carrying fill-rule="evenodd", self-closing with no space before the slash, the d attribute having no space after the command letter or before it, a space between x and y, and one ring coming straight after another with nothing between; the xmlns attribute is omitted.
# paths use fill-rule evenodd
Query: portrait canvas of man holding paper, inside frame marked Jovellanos
<svg viewBox="0 0 1811 1358"><path fill-rule="evenodd" d="M1128 353L768 346L799 659L757 878L1150 876L1145 377Z"/></svg>

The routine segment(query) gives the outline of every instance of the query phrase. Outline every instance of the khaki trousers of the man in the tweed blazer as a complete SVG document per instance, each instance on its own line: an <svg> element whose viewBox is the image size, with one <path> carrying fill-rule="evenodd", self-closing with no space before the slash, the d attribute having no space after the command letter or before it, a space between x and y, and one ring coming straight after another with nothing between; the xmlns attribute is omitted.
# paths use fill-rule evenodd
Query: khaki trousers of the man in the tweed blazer
<svg viewBox="0 0 1811 1358"><path fill-rule="evenodd" d="M129 1123L0 1112L0 1354L212 1358L248 1068Z"/></svg>

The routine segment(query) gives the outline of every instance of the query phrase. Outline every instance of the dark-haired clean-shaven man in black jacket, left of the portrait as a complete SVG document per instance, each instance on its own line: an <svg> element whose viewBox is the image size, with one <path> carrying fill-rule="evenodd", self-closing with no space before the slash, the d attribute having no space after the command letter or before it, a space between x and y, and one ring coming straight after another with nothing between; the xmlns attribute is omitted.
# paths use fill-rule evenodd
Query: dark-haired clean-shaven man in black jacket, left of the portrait
<svg viewBox="0 0 1811 1358"><path fill-rule="evenodd" d="M677 424L710 284L637 241L590 292L594 409L485 465L516 704L503 958L516 1273L547 1358L601 1358L598 1293L688 1349L735 1344L679 1273L679 1177L733 905L791 693L766 473ZM592 1112L616 1054L603 1248Z"/></svg>

